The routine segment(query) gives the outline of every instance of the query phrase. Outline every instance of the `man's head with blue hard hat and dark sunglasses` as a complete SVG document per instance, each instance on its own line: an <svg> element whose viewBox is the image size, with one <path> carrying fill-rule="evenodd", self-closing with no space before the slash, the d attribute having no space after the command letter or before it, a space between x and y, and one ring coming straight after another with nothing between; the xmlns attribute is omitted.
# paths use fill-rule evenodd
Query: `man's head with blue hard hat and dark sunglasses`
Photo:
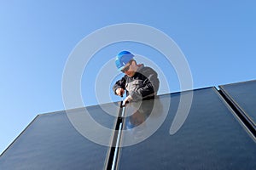
<svg viewBox="0 0 256 170"><path fill-rule="evenodd" d="M124 72L128 77L133 77L137 71L137 62L133 57L134 55L129 51L122 51L115 59L115 65L118 70Z"/></svg>

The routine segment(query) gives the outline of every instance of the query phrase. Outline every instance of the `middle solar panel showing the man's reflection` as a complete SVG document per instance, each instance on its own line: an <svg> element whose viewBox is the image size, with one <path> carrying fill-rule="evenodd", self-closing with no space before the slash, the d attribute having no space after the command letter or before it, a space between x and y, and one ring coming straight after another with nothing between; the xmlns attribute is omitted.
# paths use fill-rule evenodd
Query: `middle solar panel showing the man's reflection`
<svg viewBox="0 0 256 170"><path fill-rule="evenodd" d="M192 92L187 119L170 134L181 96ZM215 88L164 95L125 109L119 169L256 169L253 137Z"/></svg>

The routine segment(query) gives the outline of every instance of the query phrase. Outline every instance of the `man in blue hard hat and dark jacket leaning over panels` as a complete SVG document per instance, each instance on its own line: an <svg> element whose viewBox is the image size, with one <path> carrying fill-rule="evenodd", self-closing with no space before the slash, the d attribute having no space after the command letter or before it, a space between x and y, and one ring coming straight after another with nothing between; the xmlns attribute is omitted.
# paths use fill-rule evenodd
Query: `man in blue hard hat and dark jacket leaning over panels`
<svg viewBox="0 0 256 170"><path fill-rule="evenodd" d="M134 55L129 51L120 52L115 59L115 65L119 71L125 73L119 81L113 85L113 92L123 96L126 91L124 104L131 100L154 99L159 88L157 73L143 64L137 65Z"/></svg>

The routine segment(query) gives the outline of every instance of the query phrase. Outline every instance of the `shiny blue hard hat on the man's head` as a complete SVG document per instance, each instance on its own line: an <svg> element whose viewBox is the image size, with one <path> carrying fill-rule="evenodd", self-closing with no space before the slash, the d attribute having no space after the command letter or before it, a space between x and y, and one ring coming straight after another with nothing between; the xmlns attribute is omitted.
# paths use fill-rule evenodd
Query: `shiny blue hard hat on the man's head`
<svg viewBox="0 0 256 170"><path fill-rule="evenodd" d="M121 71L133 57L134 55L129 51L121 51L115 58L115 65L118 70Z"/></svg>

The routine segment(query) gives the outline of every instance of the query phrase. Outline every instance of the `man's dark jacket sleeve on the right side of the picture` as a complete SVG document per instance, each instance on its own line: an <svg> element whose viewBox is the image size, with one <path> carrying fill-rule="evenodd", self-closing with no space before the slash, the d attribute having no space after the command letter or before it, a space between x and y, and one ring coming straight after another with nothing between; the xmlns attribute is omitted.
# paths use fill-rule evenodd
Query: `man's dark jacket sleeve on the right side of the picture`
<svg viewBox="0 0 256 170"><path fill-rule="evenodd" d="M146 77L143 81L143 87L138 88L130 94L134 100L154 96L159 89L160 81L157 73L153 69L148 67L147 71L143 72L143 76Z"/></svg>

